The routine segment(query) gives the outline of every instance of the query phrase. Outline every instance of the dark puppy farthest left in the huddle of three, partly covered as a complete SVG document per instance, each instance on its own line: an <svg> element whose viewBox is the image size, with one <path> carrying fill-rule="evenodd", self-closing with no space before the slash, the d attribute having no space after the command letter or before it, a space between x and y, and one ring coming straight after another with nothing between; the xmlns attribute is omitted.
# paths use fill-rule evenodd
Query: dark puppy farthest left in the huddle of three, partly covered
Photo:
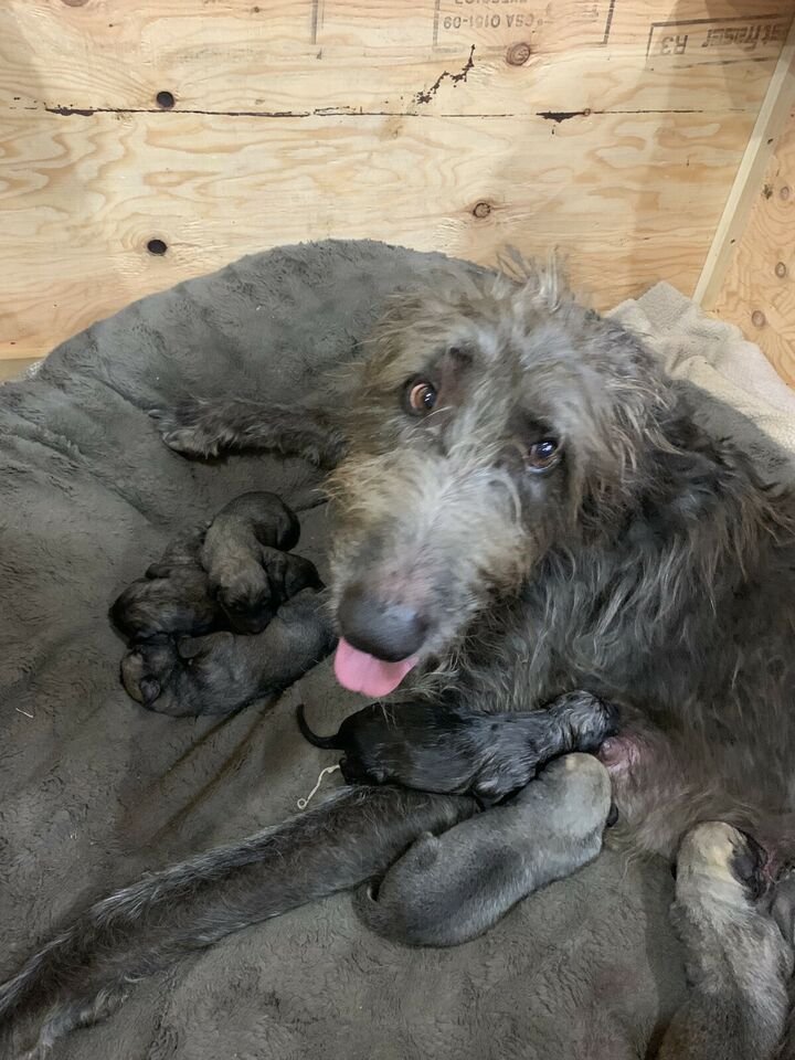
<svg viewBox="0 0 795 1060"><path fill-rule="evenodd" d="M129 640L215 628L218 604L199 560L203 540L203 526L178 534L113 604L110 621Z"/></svg>

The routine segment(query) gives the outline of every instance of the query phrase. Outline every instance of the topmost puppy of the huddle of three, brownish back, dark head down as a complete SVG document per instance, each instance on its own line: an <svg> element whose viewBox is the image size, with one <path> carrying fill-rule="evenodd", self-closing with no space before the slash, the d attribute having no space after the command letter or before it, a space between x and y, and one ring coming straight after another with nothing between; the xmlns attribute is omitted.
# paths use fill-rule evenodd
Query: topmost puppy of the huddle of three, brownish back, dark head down
<svg viewBox="0 0 795 1060"><path fill-rule="evenodd" d="M261 633L285 600L321 587L309 560L285 554L299 534L295 512L275 494L243 494L213 519L201 563L210 592L237 633Z"/></svg>

